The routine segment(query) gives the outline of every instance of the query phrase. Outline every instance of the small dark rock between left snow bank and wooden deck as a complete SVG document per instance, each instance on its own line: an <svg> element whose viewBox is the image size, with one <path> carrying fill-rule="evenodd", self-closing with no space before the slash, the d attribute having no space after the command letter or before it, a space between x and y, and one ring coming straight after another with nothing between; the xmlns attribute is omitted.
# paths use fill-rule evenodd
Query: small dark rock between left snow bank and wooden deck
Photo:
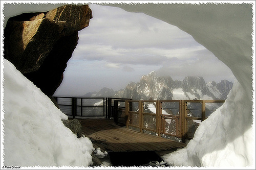
<svg viewBox="0 0 256 170"><path fill-rule="evenodd" d="M63 124L69 128L76 136L77 138L80 138L83 136L82 134L82 126L78 119L68 119L68 120L62 120Z"/></svg>

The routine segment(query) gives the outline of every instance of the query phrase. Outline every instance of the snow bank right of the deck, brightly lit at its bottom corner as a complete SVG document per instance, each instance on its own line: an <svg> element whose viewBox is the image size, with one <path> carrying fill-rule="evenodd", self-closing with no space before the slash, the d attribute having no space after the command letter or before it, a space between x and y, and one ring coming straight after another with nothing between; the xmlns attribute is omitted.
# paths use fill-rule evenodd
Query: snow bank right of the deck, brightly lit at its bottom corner
<svg viewBox="0 0 256 170"><path fill-rule="evenodd" d="M235 82L226 102L204 120L187 148L163 156L176 166L245 167L253 164L252 115L245 91Z"/></svg>

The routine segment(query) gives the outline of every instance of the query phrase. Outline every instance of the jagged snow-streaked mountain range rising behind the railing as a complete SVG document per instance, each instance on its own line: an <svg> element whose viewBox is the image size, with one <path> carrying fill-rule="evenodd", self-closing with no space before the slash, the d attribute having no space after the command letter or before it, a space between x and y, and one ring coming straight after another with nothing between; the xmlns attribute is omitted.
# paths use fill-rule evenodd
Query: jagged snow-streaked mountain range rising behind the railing
<svg viewBox="0 0 256 170"><path fill-rule="evenodd" d="M233 83L222 80L205 83L202 77L185 77L173 80L170 76L159 77L155 71L143 75L138 83L130 82L124 89L114 91L102 88L83 97L115 97L133 100L226 100Z"/></svg>

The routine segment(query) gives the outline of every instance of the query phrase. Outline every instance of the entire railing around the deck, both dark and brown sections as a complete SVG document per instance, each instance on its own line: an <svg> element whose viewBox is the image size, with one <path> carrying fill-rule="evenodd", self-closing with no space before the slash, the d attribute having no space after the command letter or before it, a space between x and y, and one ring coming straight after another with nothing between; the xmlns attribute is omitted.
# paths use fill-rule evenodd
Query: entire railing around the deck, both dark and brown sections
<svg viewBox="0 0 256 170"><path fill-rule="evenodd" d="M54 97L60 110L73 118L113 118L120 126L185 142L224 100L141 100Z"/></svg>

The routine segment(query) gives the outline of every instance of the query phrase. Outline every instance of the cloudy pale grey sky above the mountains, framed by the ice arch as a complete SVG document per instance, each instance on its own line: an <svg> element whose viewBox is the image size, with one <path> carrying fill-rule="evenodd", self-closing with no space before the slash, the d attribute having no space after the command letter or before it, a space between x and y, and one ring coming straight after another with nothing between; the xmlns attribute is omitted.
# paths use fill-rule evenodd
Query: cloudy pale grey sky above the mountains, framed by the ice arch
<svg viewBox="0 0 256 170"><path fill-rule="evenodd" d="M89 27L79 31L78 45L55 95L84 95L103 87L120 90L155 70L159 76L205 82L234 80L231 70L192 36L143 13L91 4Z"/></svg>

